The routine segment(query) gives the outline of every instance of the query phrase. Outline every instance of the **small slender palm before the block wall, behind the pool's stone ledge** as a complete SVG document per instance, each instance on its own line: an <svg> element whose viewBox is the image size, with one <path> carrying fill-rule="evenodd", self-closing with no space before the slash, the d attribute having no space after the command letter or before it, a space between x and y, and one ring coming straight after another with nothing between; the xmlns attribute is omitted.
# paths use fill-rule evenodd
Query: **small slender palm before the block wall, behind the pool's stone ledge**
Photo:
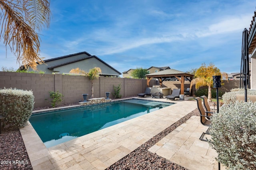
<svg viewBox="0 0 256 170"><path fill-rule="evenodd" d="M95 80L96 78L98 78L98 76L101 74L101 69L100 67L94 67L91 68L89 70L89 72L85 72L84 70L81 70L80 68L73 68L72 70L70 70L70 73L74 73L74 74L85 74L86 76L88 76L88 78L91 80L92 82L92 96L91 98L93 98L93 80Z"/></svg>

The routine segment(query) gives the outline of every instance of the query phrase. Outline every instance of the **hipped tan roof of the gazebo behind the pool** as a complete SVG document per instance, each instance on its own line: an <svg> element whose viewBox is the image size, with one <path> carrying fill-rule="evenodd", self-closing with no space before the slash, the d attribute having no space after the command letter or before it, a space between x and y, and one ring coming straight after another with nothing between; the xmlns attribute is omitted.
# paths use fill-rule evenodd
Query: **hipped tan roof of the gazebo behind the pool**
<svg viewBox="0 0 256 170"><path fill-rule="evenodd" d="M151 74L146 74L146 77L172 77L172 76L188 76L193 77L193 74L189 74L183 71L175 70L175 69L166 69L159 72L154 72Z"/></svg>

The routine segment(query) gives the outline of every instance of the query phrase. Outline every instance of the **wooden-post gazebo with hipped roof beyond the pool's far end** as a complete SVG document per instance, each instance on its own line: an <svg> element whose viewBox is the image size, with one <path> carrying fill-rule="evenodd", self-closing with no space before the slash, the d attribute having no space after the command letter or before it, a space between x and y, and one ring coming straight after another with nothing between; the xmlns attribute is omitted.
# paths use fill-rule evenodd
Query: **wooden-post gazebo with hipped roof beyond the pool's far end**
<svg viewBox="0 0 256 170"><path fill-rule="evenodd" d="M188 78L188 80L191 82L193 78L193 74L189 74L186 72L182 72L179 70L174 69L166 69L159 72L154 72L151 74L146 74L147 77L147 86L149 87L149 82L152 78L158 78L160 85L162 86L162 81L164 81L166 78L177 78L180 81L180 89L184 89L184 81L185 78ZM183 90L180 90L180 94L184 94Z"/></svg>

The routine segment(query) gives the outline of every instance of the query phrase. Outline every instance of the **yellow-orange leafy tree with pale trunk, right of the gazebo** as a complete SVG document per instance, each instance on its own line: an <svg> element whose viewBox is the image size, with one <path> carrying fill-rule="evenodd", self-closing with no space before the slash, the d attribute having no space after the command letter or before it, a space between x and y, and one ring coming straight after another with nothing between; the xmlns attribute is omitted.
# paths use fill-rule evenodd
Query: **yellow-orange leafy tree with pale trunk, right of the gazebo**
<svg viewBox="0 0 256 170"><path fill-rule="evenodd" d="M196 70L195 78L192 79L190 83L190 89L192 89L194 84L196 85L196 90L202 86L208 86L208 102L212 101L212 76L225 76L228 78L228 74L220 72L220 69L215 67L214 64L210 63L206 66L206 64L203 63L202 66Z"/></svg>

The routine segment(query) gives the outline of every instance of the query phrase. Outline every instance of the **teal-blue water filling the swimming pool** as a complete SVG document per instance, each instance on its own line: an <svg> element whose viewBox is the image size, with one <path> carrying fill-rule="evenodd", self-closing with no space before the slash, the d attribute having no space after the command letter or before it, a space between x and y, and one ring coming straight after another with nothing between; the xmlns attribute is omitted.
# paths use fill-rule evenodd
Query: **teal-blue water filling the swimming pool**
<svg viewBox="0 0 256 170"><path fill-rule="evenodd" d="M48 148L172 104L125 100L38 113L29 121Z"/></svg>

